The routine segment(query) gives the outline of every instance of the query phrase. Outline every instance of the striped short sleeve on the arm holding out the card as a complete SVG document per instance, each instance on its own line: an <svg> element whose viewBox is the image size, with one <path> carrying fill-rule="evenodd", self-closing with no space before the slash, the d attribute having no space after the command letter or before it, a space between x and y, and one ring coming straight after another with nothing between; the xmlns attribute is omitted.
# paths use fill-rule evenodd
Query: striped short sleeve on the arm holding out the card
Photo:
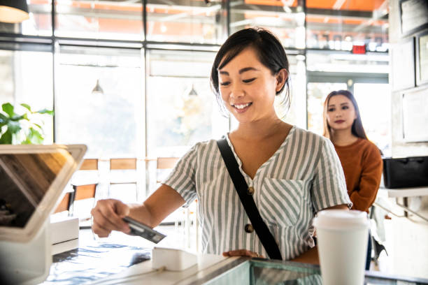
<svg viewBox="0 0 428 285"><path fill-rule="evenodd" d="M189 205L197 198L195 170L198 145L194 145L176 164L162 184L176 190Z"/></svg>

